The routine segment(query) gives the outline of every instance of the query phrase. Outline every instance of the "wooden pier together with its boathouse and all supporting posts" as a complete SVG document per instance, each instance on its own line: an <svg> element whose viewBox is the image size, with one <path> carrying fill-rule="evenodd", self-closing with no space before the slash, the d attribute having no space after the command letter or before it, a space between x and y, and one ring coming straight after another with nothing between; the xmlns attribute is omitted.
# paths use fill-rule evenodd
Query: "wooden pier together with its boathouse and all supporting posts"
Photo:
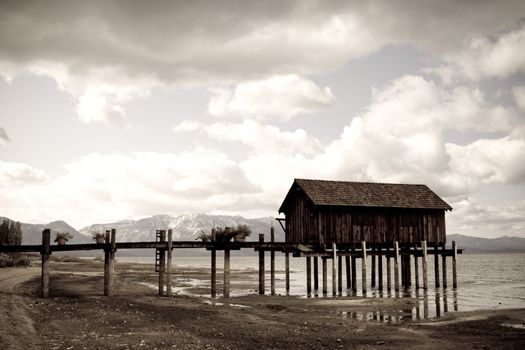
<svg viewBox="0 0 525 350"><path fill-rule="evenodd" d="M285 257L285 290L290 293L290 254L306 261L306 291L319 290L319 259L322 262L322 293L328 294L328 260L331 260L332 295L341 295L343 286L357 294L357 263L361 266L361 291L368 287L395 292L401 287L428 289L428 255L434 255L434 287L448 288L447 259L452 259L452 287L457 288L457 255L462 253L455 242L446 249L445 211L452 208L425 185L373 184L342 181L296 179L279 212L277 221L285 231L285 242L275 242L274 227L270 242L264 234L258 241L218 242L212 230L209 242L173 241L171 230L157 230L156 241L117 242L115 229L105 232L104 243L51 245L51 231L42 232L41 245L0 245L0 252L39 252L42 257L42 297L49 296L49 256L53 252L104 251L104 295L113 295L115 255L122 249L155 249L159 295L173 289L175 249L210 251L210 294L217 296L217 251L224 252L223 297L230 296L230 252L253 249L259 254L259 294L266 293L265 252L270 252L270 294L275 295L275 254ZM283 225L284 222L284 225ZM344 259L343 259L344 257ZM441 276L440 283L440 263ZM312 259L313 258L313 259ZM392 264L393 259L393 264ZM411 260L414 260L412 276ZM313 271L312 271L313 260ZM370 264L368 261L370 260ZM383 262L386 260L386 266ZM343 261L345 268L343 269ZM370 266L368 276L367 266ZM385 271L386 270L386 271ZM343 273L344 272L344 273ZM386 272L386 276L385 276ZM392 273L393 272L393 273ZM313 275L313 288L312 288ZM422 278L421 278L422 277ZM392 283L393 278L393 283ZM346 279L346 284L343 284Z"/></svg>

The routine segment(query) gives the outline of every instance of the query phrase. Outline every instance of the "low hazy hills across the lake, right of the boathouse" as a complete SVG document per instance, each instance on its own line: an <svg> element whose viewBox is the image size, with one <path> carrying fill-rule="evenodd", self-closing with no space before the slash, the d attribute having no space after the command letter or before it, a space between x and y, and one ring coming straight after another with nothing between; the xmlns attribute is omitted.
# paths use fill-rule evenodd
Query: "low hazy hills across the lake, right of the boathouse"
<svg viewBox="0 0 525 350"><path fill-rule="evenodd" d="M447 235L447 242L456 241L465 253L513 253L525 252L525 238L503 236L480 238L458 234Z"/></svg>

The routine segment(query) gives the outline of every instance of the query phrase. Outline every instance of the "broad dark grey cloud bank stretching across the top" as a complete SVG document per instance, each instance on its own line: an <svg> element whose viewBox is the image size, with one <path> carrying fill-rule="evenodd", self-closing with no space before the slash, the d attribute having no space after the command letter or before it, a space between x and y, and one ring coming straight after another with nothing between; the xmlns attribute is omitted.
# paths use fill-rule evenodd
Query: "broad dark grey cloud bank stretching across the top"
<svg viewBox="0 0 525 350"><path fill-rule="evenodd" d="M0 74L50 76L77 100L82 121L110 122L155 87L312 76L386 45L439 57L472 36L508 30L524 7L515 1L4 1Z"/></svg>

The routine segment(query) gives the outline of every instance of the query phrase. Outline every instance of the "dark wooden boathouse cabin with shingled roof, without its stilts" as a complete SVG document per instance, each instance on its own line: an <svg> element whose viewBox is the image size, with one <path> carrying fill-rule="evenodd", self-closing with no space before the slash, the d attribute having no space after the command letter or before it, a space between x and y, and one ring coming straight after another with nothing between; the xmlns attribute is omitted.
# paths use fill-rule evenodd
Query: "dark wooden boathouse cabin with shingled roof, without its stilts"
<svg viewBox="0 0 525 350"><path fill-rule="evenodd" d="M279 213L286 242L446 243L445 211L426 185L295 179Z"/></svg>

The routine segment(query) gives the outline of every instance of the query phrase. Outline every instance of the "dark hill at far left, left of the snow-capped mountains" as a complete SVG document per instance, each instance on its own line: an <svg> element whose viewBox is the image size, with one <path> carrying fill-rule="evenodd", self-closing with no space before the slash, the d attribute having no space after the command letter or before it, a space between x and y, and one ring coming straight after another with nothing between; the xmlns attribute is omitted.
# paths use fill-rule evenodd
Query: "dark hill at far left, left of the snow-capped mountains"
<svg viewBox="0 0 525 350"><path fill-rule="evenodd" d="M9 218L0 217L0 221L9 220ZM22 244L41 244L42 231L45 228L51 229L51 244L55 240L56 232L69 232L73 238L68 243L92 243L92 240L78 232L65 221L53 221L48 224L22 224Z"/></svg>

